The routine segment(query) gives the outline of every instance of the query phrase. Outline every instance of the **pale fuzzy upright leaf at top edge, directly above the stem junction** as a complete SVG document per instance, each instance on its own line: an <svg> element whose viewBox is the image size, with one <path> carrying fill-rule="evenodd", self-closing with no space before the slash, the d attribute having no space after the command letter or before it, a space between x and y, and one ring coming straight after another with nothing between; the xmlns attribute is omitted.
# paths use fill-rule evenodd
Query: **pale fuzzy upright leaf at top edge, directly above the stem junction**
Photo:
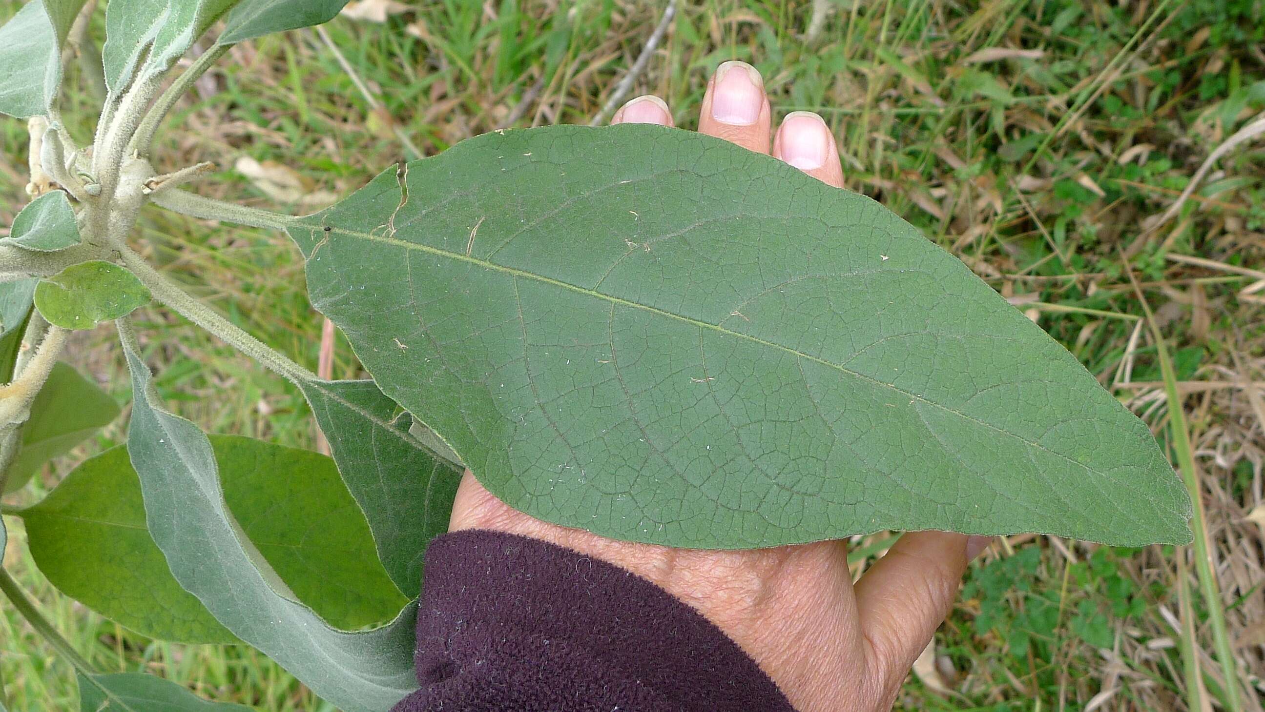
<svg viewBox="0 0 1265 712"><path fill-rule="evenodd" d="M121 92L180 59L238 0L110 0L105 9L105 85Z"/></svg>

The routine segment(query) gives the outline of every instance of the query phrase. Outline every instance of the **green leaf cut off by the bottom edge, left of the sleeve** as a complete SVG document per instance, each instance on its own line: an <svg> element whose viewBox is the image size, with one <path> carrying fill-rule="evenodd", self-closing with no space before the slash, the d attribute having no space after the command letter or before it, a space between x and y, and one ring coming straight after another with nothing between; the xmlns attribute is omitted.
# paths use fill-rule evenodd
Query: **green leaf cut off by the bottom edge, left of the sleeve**
<svg viewBox="0 0 1265 712"><path fill-rule="evenodd" d="M249 707L209 702L171 680L142 673L76 675L80 712L250 712Z"/></svg>

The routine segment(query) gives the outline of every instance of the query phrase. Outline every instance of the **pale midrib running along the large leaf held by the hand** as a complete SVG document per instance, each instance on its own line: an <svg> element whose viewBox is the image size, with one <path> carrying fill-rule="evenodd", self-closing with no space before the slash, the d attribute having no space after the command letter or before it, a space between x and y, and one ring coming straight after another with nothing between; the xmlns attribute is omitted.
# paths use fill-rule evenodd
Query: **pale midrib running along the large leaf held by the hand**
<svg viewBox="0 0 1265 712"><path fill-rule="evenodd" d="M784 345L778 344L775 341L769 341L769 340L765 340L765 339L760 339L759 336L753 336L750 334L744 334L741 331L732 331L732 330L726 329L726 328L724 328L724 326L721 326L719 324L710 324L707 321L701 321L698 319L693 319L693 317L689 317L689 316L683 316L683 315L679 315L679 314L673 314L670 311L665 311L665 310L655 307L655 306L644 305L644 304L635 302L635 301L631 301L631 300L625 300L622 297L616 297L614 295L606 295L606 293L602 293L602 292L598 292L598 291L595 291L595 290L581 287L578 285L572 285L569 282L563 282L560 279L554 279L553 277L545 277L544 274L536 274L534 272L528 272L525 269L519 269L516 267L507 267L507 266L503 266L503 264L496 264L495 262L487 262L487 261L479 259L477 257L471 257L471 255L466 255L466 254L450 252L450 250L447 250L447 249L440 249L440 248L426 245L426 244L421 244L421 243L414 243L414 242L409 242L409 240L401 240L401 239L390 238L390 236L386 236L386 235L374 235L374 234L371 234L371 233L362 233L362 231L358 231L358 230L348 230L347 228L336 228L336 226L333 226L333 225L312 225L311 223L306 223L306 221L302 221L302 220L299 220L299 221L293 223L293 228L299 228L299 226L306 228L306 229L311 230L314 234L318 233L318 231L324 233L326 235L326 238L329 235L331 235L331 234L342 234L342 235L347 235L347 236L350 236L350 238L361 238L361 239L364 239L364 240L368 240L368 242L388 244L388 245L400 247L400 248L404 248L404 249L415 249L415 250L419 250L419 252L424 252L426 254L433 254L435 257L443 257L443 258L448 258L448 259L455 259L458 262L466 262L468 264L473 264L476 267L482 267L484 269L491 269L493 272L501 272L503 274L510 274L510 276L514 276L514 277L522 277L522 278L526 278L526 279L533 279L535 282L541 282L541 283L550 285L550 286L554 286L554 287L560 287L560 288L564 288L564 290L568 290L568 291L572 291L572 292L576 292L576 293L579 293L579 295L584 295L584 296L588 296L588 297L593 297L593 298L597 298L597 300L605 300L605 301L615 304L615 305L626 306L626 307L630 307L630 309L638 309L638 310L643 310L643 311L649 311L649 312L657 314L659 316L665 316L668 319L674 319L677 321L691 324L691 325L697 326L700 329L711 329L712 331L716 331L716 333L726 335L726 336L734 336L736 339L744 339L744 340L748 340L748 341L751 341L751 343L755 343L755 344L760 344L760 345L764 345L764 347L778 349L781 352L788 353L788 354L794 355L797 358L802 358L802 359L807 359L807 360L811 360L811 362L815 362L815 363L820 363L821 365L825 365L827 368L832 368L835 371L839 371L840 373L845 373L845 374L851 376L854 378L859 378L861 381L867 381L869 383L874 383L877 386L882 386L884 388L889 388L889 390L892 390L892 391L894 391L897 393L901 393L901 395L907 396L910 398L915 398L916 401L923 402L923 403L926 403L929 406L932 406L932 407L936 407L936 408L941 408L945 412L950 412L953 415L956 415L958 417L961 417L964 420L974 422L974 424L977 424L979 426L987 427L987 429L989 429L989 430L992 430L994 433L999 433L999 434L1006 435L1008 438L1013 438L1013 439L1016 439L1016 440L1018 440L1021 443L1025 443L1025 444L1027 444L1027 445L1030 445L1032 448L1036 448L1036 449L1039 449L1041 451L1049 453L1049 454L1055 455L1055 457L1058 457L1058 458L1060 458L1063 460L1066 460L1068 463L1071 463L1075 467L1079 467L1079 468L1082 468L1084 470L1088 470L1088 472L1094 472L1097 474L1095 470L1090 469L1084 463L1075 460L1074 458L1070 458L1068 455L1064 455L1063 453L1058 453L1055 450L1051 450L1051 449L1046 448L1045 445L1041 445L1040 443L1035 443L1035 441L1028 440L1026 438L1022 438L1022 436L1020 436L1020 435L1017 435L1015 433L1011 433L1008 430L1003 430L1001 427L997 427L996 425L992 425L989 422L984 422L982 420L972 417L972 416L969 416L969 415L966 415L966 414L964 414L961 411L956 411L956 410L954 410L954 408L951 408L951 407L949 407L949 406L946 406L944 403L937 403L937 402L927 400L927 398L925 398L925 397L922 397L922 396L920 396L917 393L911 393L911 392L908 392L908 391L906 391L903 388L899 388L899 387L897 387L897 386L894 386L892 383L884 383L883 381L879 381L879 379L877 379L877 378L874 378L872 376L867 376L864 373L853 371L853 369L850 369L850 368L848 368L848 367L845 367L842 364L837 364L835 362L826 360L824 358L815 357L812 354L806 354L803 352L798 352L796 349L792 349L791 347L784 347ZM315 252L316 250L314 249L312 254L315 254Z"/></svg>

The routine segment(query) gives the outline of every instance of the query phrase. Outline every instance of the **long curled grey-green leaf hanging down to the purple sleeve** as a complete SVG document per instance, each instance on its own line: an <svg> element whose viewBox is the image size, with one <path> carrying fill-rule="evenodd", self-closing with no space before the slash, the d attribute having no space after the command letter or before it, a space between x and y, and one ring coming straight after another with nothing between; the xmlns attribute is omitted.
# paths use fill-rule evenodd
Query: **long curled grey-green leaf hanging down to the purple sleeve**
<svg viewBox="0 0 1265 712"><path fill-rule="evenodd" d="M405 606L387 626L345 632L295 602L239 535L210 440L192 422L159 408L148 367L130 347L124 353L135 396L128 451L140 477L149 534L181 587L224 627L345 712L381 712L415 689L416 606Z"/></svg>

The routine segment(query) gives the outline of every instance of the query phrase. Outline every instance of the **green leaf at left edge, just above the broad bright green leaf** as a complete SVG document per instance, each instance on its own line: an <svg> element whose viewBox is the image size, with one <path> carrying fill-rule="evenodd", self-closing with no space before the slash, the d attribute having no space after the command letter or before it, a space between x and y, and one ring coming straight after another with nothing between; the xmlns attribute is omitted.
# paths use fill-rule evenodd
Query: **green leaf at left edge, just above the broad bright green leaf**
<svg viewBox="0 0 1265 712"><path fill-rule="evenodd" d="M30 403L22 449L9 465L5 492L20 489L39 467L71 451L119 415L119 403L73 367L57 363Z"/></svg>

